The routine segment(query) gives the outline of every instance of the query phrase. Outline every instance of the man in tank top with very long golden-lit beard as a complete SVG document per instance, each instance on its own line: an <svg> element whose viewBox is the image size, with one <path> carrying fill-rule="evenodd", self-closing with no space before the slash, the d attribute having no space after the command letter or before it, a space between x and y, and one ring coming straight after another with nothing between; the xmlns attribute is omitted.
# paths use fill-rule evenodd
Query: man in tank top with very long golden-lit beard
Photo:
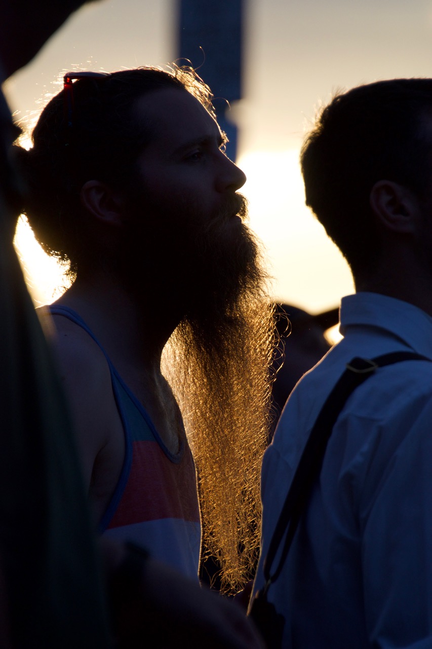
<svg viewBox="0 0 432 649"><path fill-rule="evenodd" d="M272 319L210 90L189 69L71 73L32 141L23 212L69 262L47 311L99 530L196 576L195 460L236 586L258 546Z"/></svg>

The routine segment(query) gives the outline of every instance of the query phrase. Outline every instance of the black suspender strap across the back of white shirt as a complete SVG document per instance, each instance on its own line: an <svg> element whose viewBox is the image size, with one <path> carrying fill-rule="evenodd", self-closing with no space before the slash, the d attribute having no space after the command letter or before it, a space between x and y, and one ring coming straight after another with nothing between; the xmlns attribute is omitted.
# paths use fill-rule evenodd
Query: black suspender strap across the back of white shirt
<svg viewBox="0 0 432 649"><path fill-rule="evenodd" d="M282 571L298 526L298 521L306 508L313 484L319 475L331 431L348 397L350 397L355 388L361 385L366 378L372 376L378 367L385 367L385 365L392 365L393 363L409 360L431 361L430 358L426 358L426 356L422 356L421 354L401 351L383 354L372 360L353 358L350 363L347 363L344 373L339 378L335 387L333 387L318 414L294 473L291 487L285 498L282 512L270 541L269 551L263 563L263 574L265 578L263 594L267 593L270 584L276 581ZM274 572L271 572L272 564L284 536L285 541L280 560Z"/></svg>

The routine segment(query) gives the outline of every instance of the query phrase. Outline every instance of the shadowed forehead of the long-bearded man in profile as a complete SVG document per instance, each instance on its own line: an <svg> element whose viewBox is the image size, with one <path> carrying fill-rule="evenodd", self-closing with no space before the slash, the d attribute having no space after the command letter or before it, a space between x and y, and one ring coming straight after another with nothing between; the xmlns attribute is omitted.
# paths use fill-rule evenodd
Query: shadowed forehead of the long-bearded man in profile
<svg viewBox="0 0 432 649"><path fill-rule="evenodd" d="M165 152L167 156L189 142L221 140L219 125L210 113L186 90L167 88L141 97L134 113L150 130L148 153Z"/></svg>

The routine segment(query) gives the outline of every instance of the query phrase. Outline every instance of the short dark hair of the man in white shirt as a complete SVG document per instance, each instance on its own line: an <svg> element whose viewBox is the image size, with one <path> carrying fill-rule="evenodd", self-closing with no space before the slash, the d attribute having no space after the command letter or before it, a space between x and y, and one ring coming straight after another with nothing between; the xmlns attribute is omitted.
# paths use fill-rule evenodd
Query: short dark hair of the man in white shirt
<svg viewBox="0 0 432 649"><path fill-rule="evenodd" d="M392 180L422 194L430 182L432 79L394 79L336 95L317 118L300 162L306 204L353 274L372 268L381 240L370 191Z"/></svg>

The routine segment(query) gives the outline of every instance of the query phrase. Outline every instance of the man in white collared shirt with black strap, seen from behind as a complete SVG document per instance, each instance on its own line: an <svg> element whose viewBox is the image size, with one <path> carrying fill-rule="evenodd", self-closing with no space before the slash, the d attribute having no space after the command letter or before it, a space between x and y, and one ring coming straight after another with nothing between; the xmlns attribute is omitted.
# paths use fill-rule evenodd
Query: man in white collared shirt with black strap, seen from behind
<svg viewBox="0 0 432 649"><path fill-rule="evenodd" d="M432 359L431 109L429 79L360 86L324 108L304 144L306 202L357 293L342 299L344 339L294 389L265 454L255 592L306 440L346 363L397 351ZM381 367L348 398L267 591L283 648L432 646L431 421L427 360ZM267 558L270 575L280 557Z"/></svg>

